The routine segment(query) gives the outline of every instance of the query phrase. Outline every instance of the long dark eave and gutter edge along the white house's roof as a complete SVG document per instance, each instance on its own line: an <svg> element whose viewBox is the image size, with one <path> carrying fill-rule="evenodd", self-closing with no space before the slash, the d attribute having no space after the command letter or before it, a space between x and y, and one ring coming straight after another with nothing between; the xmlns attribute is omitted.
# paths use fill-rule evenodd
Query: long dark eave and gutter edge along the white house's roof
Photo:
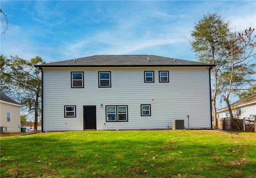
<svg viewBox="0 0 256 178"><path fill-rule="evenodd" d="M35 65L36 68L44 67L211 67L216 65Z"/></svg>

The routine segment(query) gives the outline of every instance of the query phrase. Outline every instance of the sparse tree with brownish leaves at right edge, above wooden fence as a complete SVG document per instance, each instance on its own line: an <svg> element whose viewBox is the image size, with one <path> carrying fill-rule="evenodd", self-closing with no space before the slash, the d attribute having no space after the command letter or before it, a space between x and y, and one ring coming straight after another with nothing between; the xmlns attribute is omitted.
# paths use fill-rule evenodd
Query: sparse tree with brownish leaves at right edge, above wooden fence
<svg viewBox="0 0 256 178"><path fill-rule="evenodd" d="M226 43L227 63L221 73L222 97L228 106L233 128L236 118L230 108L231 94L240 94L241 90L248 90L255 82L252 76L256 74L256 35L249 27L244 32L234 32Z"/></svg>

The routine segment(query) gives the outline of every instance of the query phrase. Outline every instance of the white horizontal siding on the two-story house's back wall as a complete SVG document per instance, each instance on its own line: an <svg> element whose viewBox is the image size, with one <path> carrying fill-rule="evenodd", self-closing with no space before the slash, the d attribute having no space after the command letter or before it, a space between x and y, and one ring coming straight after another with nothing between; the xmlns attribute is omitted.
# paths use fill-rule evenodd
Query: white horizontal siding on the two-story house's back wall
<svg viewBox="0 0 256 178"><path fill-rule="evenodd" d="M99 88L98 71L111 71L111 88ZM70 88L71 71L83 71L85 88ZM169 80L144 82L144 71L169 71ZM96 128L167 129L173 119L185 127L211 128L208 67L43 68L44 131L83 130L83 106L96 106ZM100 105L103 104L103 108ZM106 122L105 106L128 106L128 121ZM151 117L141 117L141 104ZM76 105L76 117L64 117L63 106ZM117 114L117 112L116 112Z"/></svg>

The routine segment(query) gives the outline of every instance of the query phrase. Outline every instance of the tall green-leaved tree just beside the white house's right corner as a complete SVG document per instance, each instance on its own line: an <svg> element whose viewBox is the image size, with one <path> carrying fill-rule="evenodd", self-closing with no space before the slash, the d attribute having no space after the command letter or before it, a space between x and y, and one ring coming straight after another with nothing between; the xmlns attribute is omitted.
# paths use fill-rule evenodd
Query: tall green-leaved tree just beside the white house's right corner
<svg viewBox="0 0 256 178"><path fill-rule="evenodd" d="M226 64L226 56L223 55L224 47L230 36L229 22L224 22L217 14L204 15L195 24L191 33L193 41L192 49L200 62L216 65L211 70L212 75L212 113L214 128L218 127L216 115L216 97L220 93L220 73Z"/></svg>

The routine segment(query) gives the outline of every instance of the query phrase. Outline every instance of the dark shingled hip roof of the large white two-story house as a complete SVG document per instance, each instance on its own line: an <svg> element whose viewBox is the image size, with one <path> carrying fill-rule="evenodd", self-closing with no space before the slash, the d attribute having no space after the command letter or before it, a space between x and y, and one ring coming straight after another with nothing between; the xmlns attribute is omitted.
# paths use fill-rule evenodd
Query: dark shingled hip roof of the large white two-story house
<svg viewBox="0 0 256 178"><path fill-rule="evenodd" d="M75 62L74 62L75 61ZM95 55L35 67L214 67L216 65L155 55Z"/></svg>

